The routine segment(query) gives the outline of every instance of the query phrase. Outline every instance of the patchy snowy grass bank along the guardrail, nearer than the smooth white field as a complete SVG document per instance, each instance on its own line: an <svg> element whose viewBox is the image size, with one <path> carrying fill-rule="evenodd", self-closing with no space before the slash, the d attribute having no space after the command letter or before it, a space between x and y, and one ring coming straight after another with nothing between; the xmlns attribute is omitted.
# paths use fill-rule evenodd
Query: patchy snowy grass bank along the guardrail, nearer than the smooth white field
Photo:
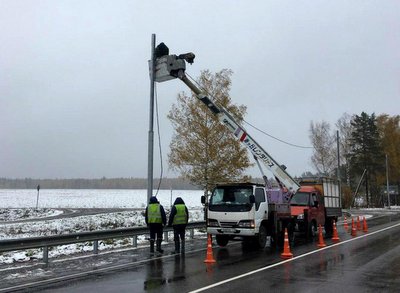
<svg viewBox="0 0 400 293"><path fill-rule="evenodd" d="M7 210L7 209L2 209ZM166 210L169 213L169 210ZM23 214L34 215L35 218L42 218L38 216L38 212L30 213L28 211L13 211L8 214ZM46 211L46 214L53 214ZM190 210L190 222L203 220L202 209ZM26 218L26 217L25 217ZM13 218L15 219L15 217ZM12 223L0 225L0 239L16 239L37 236L61 235L68 233L96 231L96 230L109 230L123 227L136 227L144 226L143 211L125 211L117 213L105 213L97 215L79 216L74 218L63 218L54 220L41 220L24 223ZM170 235L172 237L172 235ZM172 238L169 239L172 241ZM146 236L138 237L138 245L148 245ZM124 247L131 247L132 239L108 239L99 241L99 250L120 249ZM90 242L77 243L70 245L62 245L49 248L49 257L56 258L61 256L72 255L81 252L93 250L93 244ZM7 252L0 255L1 264L11 264L15 262L25 262L30 260L40 260L42 258L41 249L29 249L25 251Z"/></svg>

